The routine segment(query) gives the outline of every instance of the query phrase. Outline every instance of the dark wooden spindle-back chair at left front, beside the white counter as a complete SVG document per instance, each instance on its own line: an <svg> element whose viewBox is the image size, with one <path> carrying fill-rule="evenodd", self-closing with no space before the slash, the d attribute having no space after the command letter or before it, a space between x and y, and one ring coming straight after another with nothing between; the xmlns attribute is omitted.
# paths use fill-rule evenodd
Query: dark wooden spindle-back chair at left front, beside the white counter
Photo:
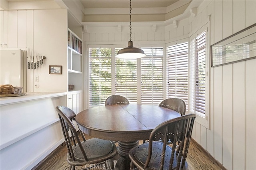
<svg viewBox="0 0 256 170"><path fill-rule="evenodd" d="M72 119L75 119L75 116L71 109L57 106L56 111L60 118L60 125L68 149L67 161L71 166L71 170L75 170L76 166L90 166L91 168L93 164L105 163L116 155L117 149L113 141L98 138L80 140L76 127L72 123ZM72 119L70 119L71 117ZM71 140L70 133L72 135ZM106 164L109 165L109 162L106 162Z"/></svg>

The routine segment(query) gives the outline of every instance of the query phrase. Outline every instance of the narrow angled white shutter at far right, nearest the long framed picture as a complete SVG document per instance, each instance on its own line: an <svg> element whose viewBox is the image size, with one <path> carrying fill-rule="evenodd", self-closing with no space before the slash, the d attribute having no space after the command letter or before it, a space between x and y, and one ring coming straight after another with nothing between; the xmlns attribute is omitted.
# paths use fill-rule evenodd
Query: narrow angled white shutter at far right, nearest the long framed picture
<svg viewBox="0 0 256 170"><path fill-rule="evenodd" d="M190 42L190 111L205 114L206 31Z"/></svg>

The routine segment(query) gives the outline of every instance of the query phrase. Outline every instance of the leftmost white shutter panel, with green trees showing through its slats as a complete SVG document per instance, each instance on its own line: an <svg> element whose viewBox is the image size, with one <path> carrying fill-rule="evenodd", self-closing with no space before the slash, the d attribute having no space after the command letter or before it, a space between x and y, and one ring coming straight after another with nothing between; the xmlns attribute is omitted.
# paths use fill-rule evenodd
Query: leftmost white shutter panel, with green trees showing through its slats
<svg viewBox="0 0 256 170"><path fill-rule="evenodd" d="M90 48L90 107L111 95L111 48Z"/></svg>

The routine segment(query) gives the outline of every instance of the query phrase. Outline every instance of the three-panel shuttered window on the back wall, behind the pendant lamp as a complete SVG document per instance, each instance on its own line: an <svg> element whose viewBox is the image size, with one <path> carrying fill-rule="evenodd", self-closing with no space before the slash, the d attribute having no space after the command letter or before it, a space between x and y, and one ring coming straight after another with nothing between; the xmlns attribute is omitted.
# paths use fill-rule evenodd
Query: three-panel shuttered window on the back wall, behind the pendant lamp
<svg viewBox="0 0 256 170"><path fill-rule="evenodd" d="M113 94L130 103L158 105L164 99L164 48L143 48L146 57L141 59L119 59L113 50L116 55L120 48L89 48L89 106L104 105Z"/></svg>

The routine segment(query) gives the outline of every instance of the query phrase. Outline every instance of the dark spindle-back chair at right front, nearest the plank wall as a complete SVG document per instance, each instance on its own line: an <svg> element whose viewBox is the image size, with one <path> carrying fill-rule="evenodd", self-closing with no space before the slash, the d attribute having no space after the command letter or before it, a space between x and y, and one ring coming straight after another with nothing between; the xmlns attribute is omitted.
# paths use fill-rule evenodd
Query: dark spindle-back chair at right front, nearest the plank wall
<svg viewBox="0 0 256 170"><path fill-rule="evenodd" d="M154 128L149 142L129 151L130 170L133 170L134 166L140 170L188 169L186 157L195 118L196 114L184 115L165 121ZM177 149L175 145L168 145L169 140L172 143L180 140L180 147Z"/></svg>

